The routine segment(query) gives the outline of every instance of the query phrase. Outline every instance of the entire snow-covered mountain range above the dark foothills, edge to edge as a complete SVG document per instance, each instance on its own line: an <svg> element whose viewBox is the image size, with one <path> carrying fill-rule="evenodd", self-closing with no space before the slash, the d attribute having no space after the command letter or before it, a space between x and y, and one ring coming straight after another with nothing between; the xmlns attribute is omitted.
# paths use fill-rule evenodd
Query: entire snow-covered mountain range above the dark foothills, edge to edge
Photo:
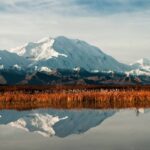
<svg viewBox="0 0 150 150"><path fill-rule="evenodd" d="M93 73L124 73L127 77L150 76L149 59L126 65L85 41L64 36L46 37L14 49L0 50L1 71L51 73L57 69L80 71L81 68Z"/></svg>

